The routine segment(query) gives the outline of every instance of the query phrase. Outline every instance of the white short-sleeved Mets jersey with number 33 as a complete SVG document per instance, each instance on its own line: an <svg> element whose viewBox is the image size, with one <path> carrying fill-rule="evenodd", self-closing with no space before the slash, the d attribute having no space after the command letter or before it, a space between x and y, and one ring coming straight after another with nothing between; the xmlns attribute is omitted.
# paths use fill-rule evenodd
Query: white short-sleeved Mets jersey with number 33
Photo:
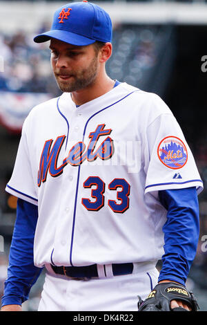
<svg viewBox="0 0 207 325"><path fill-rule="evenodd" d="M168 106L126 83L77 108L70 93L26 118L6 190L38 205L34 264L157 261L158 191L203 187Z"/></svg>

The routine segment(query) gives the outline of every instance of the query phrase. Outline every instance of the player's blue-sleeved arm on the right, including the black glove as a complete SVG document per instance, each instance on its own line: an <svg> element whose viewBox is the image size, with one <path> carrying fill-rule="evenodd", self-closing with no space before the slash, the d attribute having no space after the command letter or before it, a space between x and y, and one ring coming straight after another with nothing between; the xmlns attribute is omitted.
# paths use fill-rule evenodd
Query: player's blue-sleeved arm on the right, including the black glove
<svg viewBox="0 0 207 325"><path fill-rule="evenodd" d="M194 311L197 310L197 302L188 293L185 284L199 239L197 191L195 187L167 189L159 191L159 199L167 210L167 221L163 227L163 266L158 285L139 310L164 311L182 307L183 310ZM180 295L177 294L180 292Z"/></svg>

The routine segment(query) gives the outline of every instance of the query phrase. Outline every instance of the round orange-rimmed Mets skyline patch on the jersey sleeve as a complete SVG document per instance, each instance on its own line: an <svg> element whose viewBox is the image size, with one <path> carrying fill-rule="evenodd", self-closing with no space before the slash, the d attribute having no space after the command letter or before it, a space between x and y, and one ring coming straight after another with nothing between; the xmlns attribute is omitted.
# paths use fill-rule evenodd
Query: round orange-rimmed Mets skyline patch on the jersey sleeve
<svg viewBox="0 0 207 325"><path fill-rule="evenodd" d="M172 169L184 167L188 160L188 152L184 142L175 136L168 136L161 140L157 154L161 163Z"/></svg>

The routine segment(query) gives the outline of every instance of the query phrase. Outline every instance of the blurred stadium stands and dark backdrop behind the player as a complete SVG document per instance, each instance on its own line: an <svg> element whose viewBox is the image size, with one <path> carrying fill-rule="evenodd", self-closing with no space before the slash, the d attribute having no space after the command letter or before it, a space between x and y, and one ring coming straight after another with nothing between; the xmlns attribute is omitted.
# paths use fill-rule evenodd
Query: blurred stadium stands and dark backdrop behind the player
<svg viewBox="0 0 207 325"><path fill-rule="evenodd" d="M71 1L0 1L0 297L17 205L17 199L4 189L14 166L21 126L35 104L59 95L48 44L37 45L32 39L50 28L53 12L67 2ZM207 1L92 2L112 17L114 51L108 75L164 99L181 124L205 187L207 73L201 66L207 59ZM201 311L207 310L206 191L205 187L199 195L201 232L187 281ZM43 278L42 272L23 310L37 310Z"/></svg>

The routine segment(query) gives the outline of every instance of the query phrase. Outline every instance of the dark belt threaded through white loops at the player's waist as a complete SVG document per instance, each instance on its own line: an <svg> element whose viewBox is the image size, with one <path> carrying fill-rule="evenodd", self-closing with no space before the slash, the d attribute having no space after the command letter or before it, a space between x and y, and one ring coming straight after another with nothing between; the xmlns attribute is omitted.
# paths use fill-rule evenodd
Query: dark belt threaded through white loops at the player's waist
<svg viewBox="0 0 207 325"><path fill-rule="evenodd" d="M67 277L72 278L92 278L99 277L97 271L97 264L91 266L52 266L52 270L57 275L66 275ZM103 265L104 272L106 275L106 268ZM112 264L112 273L113 275L130 275L133 272L133 263L117 263ZM106 275L107 277L107 275Z"/></svg>

